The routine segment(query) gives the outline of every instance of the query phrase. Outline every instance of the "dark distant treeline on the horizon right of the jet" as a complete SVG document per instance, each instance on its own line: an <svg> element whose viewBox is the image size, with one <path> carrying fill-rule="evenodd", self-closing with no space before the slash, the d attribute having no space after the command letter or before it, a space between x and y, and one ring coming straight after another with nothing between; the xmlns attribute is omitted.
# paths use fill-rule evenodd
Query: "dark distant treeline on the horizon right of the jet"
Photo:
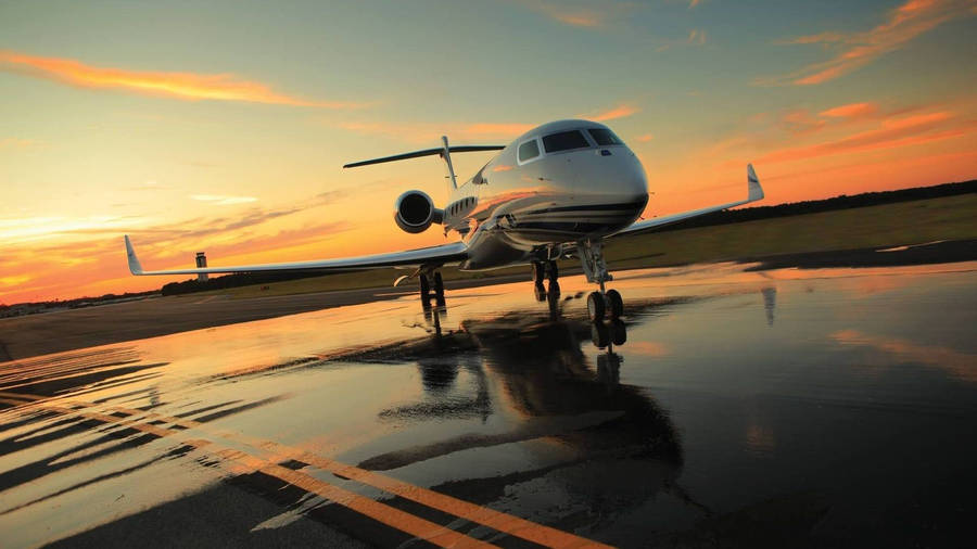
<svg viewBox="0 0 977 549"><path fill-rule="evenodd" d="M714 214L694 217L661 229L671 231L689 229L691 227L708 227L712 225L737 224L753 221L757 219L770 219L773 217L799 216L803 214L817 214L835 209L850 209L866 206L878 206L894 202L909 202L914 200L938 199L977 192L977 179L959 183L943 183L934 187L917 187L915 189L902 189L899 191L866 192L851 196L840 195L834 199L813 200L807 202L791 202L778 206L756 206L743 209L726 209Z"/></svg>

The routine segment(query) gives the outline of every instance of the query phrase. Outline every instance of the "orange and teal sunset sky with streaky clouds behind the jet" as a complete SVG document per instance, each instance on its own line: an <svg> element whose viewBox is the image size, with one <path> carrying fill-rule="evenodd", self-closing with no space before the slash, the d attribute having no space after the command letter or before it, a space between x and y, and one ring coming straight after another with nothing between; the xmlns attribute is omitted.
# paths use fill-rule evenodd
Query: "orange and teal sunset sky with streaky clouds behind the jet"
<svg viewBox="0 0 977 549"><path fill-rule="evenodd" d="M436 157L586 117L646 215L977 178L977 0L0 1L0 303L142 291L147 268L445 242ZM490 157L455 157L465 178ZM453 237L448 237L449 239Z"/></svg>

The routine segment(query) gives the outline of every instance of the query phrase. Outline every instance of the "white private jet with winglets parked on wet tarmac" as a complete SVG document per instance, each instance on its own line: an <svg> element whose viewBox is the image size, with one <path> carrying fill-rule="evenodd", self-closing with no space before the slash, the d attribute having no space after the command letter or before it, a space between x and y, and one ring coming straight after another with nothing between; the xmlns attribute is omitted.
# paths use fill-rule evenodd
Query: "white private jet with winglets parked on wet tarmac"
<svg viewBox="0 0 977 549"><path fill-rule="evenodd" d="M559 293L557 259L576 257L588 282L597 290L587 296L592 321L616 319L624 314L604 258L607 239L654 231L686 219L732 208L763 199L763 189L752 165L747 165L745 200L681 214L640 219L648 203L648 179L634 152L602 124L558 120L523 133L507 145L449 145L446 137L435 149L415 151L346 164L343 168L421 156L440 156L446 168L449 200L437 208L426 192L407 191L394 202L394 221L401 230L419 233L440 225L448 244L405 252L313 261L207 267L174 270L142 269L129 237L125 237L129 270L136 276L201 274L258 271L350 271L396 267L411 272L397 278L418 279L424 304L444 301L441 269L462 271L531 265L537 290L549 282L549 293ZM498 151L462 184L452 165L453 153Z"/></svg>

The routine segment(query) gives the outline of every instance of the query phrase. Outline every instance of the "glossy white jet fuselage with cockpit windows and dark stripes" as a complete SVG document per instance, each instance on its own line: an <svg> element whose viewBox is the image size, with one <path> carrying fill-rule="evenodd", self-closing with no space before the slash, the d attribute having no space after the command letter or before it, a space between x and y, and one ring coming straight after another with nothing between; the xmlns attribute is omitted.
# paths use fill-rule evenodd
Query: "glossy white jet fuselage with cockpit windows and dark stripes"
<svg viewBox="0 0 977 549"><path fill-rule="evenodd" d="M563 244L633 224L648 202L645 169L617 136L605 132L606 126L587 120L545 124L454 189L443 222L445 232L457 231L468 244L469 258L459 267L555 259Z"/></svg>

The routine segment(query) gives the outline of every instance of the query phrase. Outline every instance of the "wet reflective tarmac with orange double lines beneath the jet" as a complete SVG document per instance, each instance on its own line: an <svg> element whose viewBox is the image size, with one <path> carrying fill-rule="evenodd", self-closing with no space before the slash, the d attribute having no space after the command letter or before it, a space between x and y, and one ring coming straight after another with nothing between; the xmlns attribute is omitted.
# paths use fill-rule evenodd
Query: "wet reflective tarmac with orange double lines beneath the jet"
<svg viewBox="0 0 977 549"><path fill-rule="evenodd" d="M977 264L457 290L0 363L3 547L957 546Z"/></svg>

